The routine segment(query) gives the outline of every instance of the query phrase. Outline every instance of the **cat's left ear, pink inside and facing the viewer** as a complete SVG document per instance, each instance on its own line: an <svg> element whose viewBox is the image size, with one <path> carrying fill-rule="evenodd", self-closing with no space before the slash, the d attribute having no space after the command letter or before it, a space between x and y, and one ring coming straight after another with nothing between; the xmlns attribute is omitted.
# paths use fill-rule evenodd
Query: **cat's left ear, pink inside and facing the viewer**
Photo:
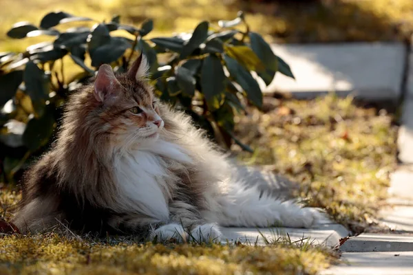
<svg viewBox="0 0 413 275"><path fill-rule="evenodd" d="M98 69L98 75L94 83L94 97L99 102L105 102L116 96L116 91L121 89L119 81L116 79L112 67L103 64Z"/></svg>

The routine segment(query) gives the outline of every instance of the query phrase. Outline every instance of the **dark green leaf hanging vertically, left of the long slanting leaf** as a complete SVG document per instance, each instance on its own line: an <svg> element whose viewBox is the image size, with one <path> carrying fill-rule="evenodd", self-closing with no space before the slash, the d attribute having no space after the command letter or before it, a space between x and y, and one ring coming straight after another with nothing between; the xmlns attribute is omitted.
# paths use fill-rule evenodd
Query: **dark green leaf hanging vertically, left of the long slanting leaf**
<svg viewBox="0 0 413 275"><path fill-rule="evenodd" d="M218 109L222 104L225 79L226 76L220 59L216 56L207 56L202 63L200 84L202 94L204 94L210 110Z"/></svg>

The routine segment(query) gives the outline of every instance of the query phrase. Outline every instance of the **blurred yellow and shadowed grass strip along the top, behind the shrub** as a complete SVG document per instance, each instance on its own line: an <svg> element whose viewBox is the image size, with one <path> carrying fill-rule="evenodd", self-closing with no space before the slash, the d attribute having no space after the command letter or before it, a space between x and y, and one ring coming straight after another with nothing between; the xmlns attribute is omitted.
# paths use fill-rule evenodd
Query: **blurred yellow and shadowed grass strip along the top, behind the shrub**
<svg viewBox="0 0 413 275"><path fill-rule="evenodd" d="M413 2L410 0L272 2L2 0L0 52L23 51L28 45L47 40L47 37L12 40L6 37L6 32L18 21L30 21L38 25L41 18L52 10L65 10L97 21L107 21L112 15L120 14L124 23L135 25L152 18L155 30L151 36L191 31L202 20L216 23L220 19L233 19L238 10L246 11L251 30L280 43L403 41L413 31Z"/></svg>

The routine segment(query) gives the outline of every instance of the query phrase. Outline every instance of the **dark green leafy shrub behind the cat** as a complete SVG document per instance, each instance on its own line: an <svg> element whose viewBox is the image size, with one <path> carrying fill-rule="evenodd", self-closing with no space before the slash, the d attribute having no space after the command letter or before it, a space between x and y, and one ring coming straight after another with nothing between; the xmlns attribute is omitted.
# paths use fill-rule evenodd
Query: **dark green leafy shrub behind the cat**
<svg viewBox="0 0 413 275"><path fill-rule="evenodd" d="M19 54L0 54L0 150L6 181L24 168L30 156L50 145L67 96L104 63L124 72L136 52L143 52L161 100L189 113L211 137L220 136L227 146L236 142L250 151L233 135L233 118L234 112L244 111L244 104L262 107L262 91L251 72L266 85L276 72L293 77L262 36L249 30L242 12L232 21L219 21L219 26L203 21L192 34L153 39L145 39L153 29L151 20L140 28L120 23L118 16L92 28L84 26L89 21L50 12L39 26L20 22L8 31L12 39L50 36L54 41L31 45ZM61 31L74 22L75 28ZM84 25L79 27L78 22ZM125 35L114 36L116 30ZM63 62L67 56L83 72L67 74Z"/></svg>

